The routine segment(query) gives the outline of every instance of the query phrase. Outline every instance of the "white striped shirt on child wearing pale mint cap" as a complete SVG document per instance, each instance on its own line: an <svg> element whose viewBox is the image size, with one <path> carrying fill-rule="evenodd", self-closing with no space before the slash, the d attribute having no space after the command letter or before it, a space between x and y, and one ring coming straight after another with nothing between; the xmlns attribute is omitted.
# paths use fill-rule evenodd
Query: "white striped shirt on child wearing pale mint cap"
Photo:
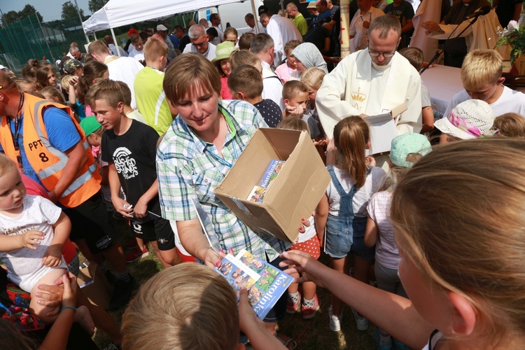
<svg viewBox="0 0 525 350"><path fill-rule="evenodd" d="M398 269L401 258L394 241L394 230L390 223L390 204L392 193L374 193L368 204L368 216L377 224L378 239L375 245L375 258L379 265L388 269Z"/></svg>

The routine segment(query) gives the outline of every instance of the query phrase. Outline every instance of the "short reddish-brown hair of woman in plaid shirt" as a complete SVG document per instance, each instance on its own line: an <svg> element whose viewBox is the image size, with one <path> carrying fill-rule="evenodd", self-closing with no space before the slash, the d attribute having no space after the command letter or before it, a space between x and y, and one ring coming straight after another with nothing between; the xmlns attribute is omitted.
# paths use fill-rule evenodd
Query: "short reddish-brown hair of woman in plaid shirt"
<svg viewBox="0 0 525 350"><path fill-rule="evenodd" d="M216 66L203 55L188 52L177 56L169 64L162 88L166 92L168 101L177 104L179 100L195 90L196 84L199 84L204 91L216 92L221 96L221 76Z"/></svg>

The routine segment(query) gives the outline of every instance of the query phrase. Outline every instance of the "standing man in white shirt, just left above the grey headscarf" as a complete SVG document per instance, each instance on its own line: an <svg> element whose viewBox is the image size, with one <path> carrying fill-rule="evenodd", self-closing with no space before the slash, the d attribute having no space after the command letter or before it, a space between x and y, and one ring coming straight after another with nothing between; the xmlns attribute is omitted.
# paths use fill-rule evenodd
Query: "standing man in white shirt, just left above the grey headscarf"
<svg viewBox="0 0 525 350"><path fill-rule="evenodd" d="M270 15L266 6L260 6L259 13L262 26L274 40L274 66L279 66L286 58L284 45L290 40L302 41L302 35L291 20L280 15Z"/></svg>

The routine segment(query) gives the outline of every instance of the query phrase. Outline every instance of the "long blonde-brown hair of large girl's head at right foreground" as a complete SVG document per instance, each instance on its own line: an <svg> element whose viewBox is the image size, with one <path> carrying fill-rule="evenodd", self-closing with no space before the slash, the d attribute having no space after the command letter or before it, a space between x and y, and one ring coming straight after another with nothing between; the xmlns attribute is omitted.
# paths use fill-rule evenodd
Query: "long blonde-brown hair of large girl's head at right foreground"
<svg viewBox="0 0 525 350"><path fill-rule="evenodd" d="M524 172L523 139L444 144L412 167L391 204L405 257L433 288L465 297L496 344L525 329Z"/></svg>

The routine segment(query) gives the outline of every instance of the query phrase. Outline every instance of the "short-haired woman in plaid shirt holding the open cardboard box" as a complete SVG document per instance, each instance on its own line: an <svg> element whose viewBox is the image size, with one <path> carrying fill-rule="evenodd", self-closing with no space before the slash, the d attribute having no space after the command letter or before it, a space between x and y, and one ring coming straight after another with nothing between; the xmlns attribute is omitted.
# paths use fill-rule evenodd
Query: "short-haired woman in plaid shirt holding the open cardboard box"
<svg viewBox="0 0 525 350"><path fill-rule="evenodd" d="M250 230L214 194L255 130L267 126L262 116L244 101L219 99L221 77L202 55L177 57L165 73L163 87L179 118L157 153L162 216L176 221L183 247L209 267L220 264L223 251L238 253L243 248L278 266L285 243ZM203 235L192 200L198 200L211 218L222 251L211 248ZM286 296L265 318L267 329L276 336L276 321L285 310ZM288 347L295 345L293 339L278 337Z"/></svg>

